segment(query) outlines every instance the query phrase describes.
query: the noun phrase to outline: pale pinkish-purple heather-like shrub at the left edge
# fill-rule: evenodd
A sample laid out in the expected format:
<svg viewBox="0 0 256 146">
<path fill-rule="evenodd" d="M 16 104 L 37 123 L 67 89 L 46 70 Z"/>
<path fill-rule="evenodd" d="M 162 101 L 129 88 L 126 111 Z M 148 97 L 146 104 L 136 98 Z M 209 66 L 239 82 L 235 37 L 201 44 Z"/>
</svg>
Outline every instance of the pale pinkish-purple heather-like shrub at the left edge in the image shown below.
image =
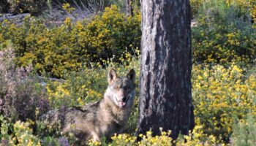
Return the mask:
<svg viewBox="0 0 256 146">
<path fill-rule="evenodd" d="M 48 110 L 45 92 L 31 69 L 16 69 L 13 51 L 0 51 L 0 114 L 12 120 L 34 120 Z M 37 114 L 36 114 L 37 111 Z"/>
</svg>

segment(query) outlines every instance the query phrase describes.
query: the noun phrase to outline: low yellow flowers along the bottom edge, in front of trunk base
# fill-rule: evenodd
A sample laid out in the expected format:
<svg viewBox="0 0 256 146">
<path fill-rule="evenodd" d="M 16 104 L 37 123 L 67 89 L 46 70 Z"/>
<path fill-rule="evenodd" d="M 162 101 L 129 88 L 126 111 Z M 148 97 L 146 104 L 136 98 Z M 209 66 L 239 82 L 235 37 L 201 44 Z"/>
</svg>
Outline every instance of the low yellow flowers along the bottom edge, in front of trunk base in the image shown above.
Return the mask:
<svg viewBox="0 0 256 146">
<path fill-rule="evenodd" d="M 133 136 L 132 134 L 118 134 L 114 135 L 111 139 L 112 141 L 108 145 L 138 145 L 138 146 L 145 146 L 145 145 L 217 145 L 216 139 L 214 136 L 207 137 L 203 135 L 200 126 L 195 126 L 194 131 L 190 131 L 188 136 L 180 135 L 178 139 L 174 140 L 170 137 L 171 131 L 162 131 L 160 128 L 161 134 L 159 136 L 153 136 L 152 131 L 147 131 L 146 135 L 140 134 L 140 141 L 136 141 L 137 137 Z M 107 145 L 105 142 L 93 142 L 90 141 L 89 145 L 97 146 L 97 145 Z M 225 145 L 222 143 L 222 145 Z"/>
</svg>

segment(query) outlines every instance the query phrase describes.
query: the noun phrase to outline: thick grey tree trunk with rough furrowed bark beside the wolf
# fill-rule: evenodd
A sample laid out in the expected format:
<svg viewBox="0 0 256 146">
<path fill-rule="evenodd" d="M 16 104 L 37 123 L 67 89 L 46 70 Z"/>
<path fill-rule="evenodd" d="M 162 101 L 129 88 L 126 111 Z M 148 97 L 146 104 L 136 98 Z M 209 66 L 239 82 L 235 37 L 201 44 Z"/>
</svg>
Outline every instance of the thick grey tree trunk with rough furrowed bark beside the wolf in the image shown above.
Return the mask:
<svg viewBox="0 0 256 146">
<path fill-rule="evenodd" d="M 194 127 L 189 0 L 141 0 L 142 40 L 138 134 Z"/>
</svg>

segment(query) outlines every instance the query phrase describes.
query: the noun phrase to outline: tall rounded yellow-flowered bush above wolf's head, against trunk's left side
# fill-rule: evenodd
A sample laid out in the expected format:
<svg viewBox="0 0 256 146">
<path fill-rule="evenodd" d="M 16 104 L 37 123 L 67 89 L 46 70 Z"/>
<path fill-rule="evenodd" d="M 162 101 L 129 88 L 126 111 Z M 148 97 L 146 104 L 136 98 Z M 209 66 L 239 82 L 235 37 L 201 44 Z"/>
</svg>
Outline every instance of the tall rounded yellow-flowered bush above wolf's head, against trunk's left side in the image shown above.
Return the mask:
<svg viewBox="0 0 256 146">
<path fill-rule="evenodd" d="M 84 36 L 96 59 L 120 58 L 126 47 L 132 53 L 133 47 L 140 47 L 140 14 L 126 18 L 116 6 L 107 7 L 102 15 L 96 15 L 86 26 Z M 83 35 L 83 34 L 81 34 Z M 114 59 L 116 59 L 114 58 Z"/>
</svg>

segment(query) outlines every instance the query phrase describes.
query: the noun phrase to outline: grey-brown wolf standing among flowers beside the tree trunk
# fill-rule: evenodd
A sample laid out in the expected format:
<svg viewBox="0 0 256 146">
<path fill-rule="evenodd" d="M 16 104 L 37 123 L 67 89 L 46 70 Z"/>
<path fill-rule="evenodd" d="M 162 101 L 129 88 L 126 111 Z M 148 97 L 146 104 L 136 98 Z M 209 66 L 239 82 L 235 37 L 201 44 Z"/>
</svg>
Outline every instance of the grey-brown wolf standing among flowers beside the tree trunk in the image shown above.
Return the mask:
<svg viewBox="0 0 256 146">
<path fill-rule="evenodd" d="M 83 107 L 52 110 L 41 117 L 46 125 L 61 123 L 61 132 L 72 133 L 78 145 L 89 139 L 99 141 L 119 134 L 129 119 L 135 100 L 135 70 L 126 77 L 118 77 L 114 69 L 108 72 L 108 88 L 104 98 Z M 61 121 L 60 121 L 61 120 Z"/>
</svg>

